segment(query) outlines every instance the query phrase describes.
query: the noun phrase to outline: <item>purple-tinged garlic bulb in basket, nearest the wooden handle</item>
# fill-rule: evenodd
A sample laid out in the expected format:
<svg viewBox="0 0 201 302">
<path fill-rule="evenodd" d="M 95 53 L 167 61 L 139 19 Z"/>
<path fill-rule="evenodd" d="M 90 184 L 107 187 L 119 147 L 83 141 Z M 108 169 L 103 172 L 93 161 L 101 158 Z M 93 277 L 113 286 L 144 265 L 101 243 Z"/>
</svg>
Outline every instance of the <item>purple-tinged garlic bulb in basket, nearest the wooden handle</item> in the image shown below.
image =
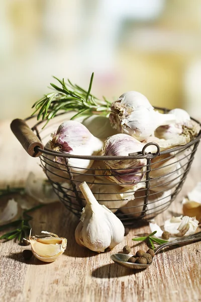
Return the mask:
<svg viewBox="0 0 201 302">
<path fill-rule="evenodd" d="M 96 155 L 103 147 L 103 141 L 93 136 L 88 129 L 79 122 L 68 120 L 62 123 L 57 132 L 52 135 L 50 146 L 53 151 L 77 156 Z M 65 168 L 62 157 L 55 157 L 54 161 L 59 167 Z M 79 158 L 68 159 L 71 172 L 85 173 L 93 164 L 92 160 Z"/>
</svg>

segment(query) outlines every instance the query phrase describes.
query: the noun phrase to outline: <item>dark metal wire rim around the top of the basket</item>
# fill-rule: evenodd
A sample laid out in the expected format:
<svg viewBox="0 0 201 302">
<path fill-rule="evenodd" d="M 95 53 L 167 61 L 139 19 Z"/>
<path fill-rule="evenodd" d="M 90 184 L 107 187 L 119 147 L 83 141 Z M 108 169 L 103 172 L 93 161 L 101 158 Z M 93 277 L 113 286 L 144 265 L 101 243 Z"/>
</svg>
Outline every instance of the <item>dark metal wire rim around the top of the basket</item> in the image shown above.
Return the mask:
<svg viewBox="0 0 201 302">
<path fill-rule="evenodd" d="M 162 107 L 154 107 L 154 109 L 158 109 L 158 110 L 163 110 L 164 112 L 168 112 L 171 109 L 167 109 L 167 108 L 162 108 Z M 58 114 L 56 114 L 55 116 L 59 116 L 59 115 L 63 115 L 69 113 L 64 111 L 64 112 L 60 112 Z M 33 115 L 33 116 L 29 116 L 27 118 L 24 119 L 24 121 L 28 121 L 32 118 L 35 118 L 37 115 Z M 182 150 L 182 149 L 186 149 L 188 147 L 190 147 L 191 145 L 195 144 L 196 142 L 199 142 L 200 138 L 201 138 L 201 122 L 197 121 L 196 119 L 194 119 L 193 117 L 190 116 L 190 119 L 193 120 L 195 123 L 197 123 L 200 126 L 200 130 L 199 133 L 197 134 L 197 136 L 195 138 L 193 138 L 191 141 L 189 141 L 188 143 L 186 143 L 185 145 L 181 145 L 181 146 L 177 146 L 174 148 L 169 148 L 167 150 L 164 151 L 160 151 L 160 147 L 156 142 L 148 142 L 147 144 L 144 145 L 143 149 L 137 153 L 132 153 L 129 154 L 128 156 L 105 156 L 105 155 L 88 155 L 88 156 L 82 156 L 82 155 L 72 155 L 72 154 L 63 154 L 62 152 L 59 151 L 52 151 L 49 148 L 46 148 L 44 146 L 44 149 L 40 148 L 40 147 L 36 147 L 37 151 L 42 153 L 42 154 L 46 154 L 46 155 L 50 155 L 53 157 L 61 157 L 61 158 L 74 158 L 74 159 L 83 159 L 83 160 L 99 160 L 99 161 L 105 161 L 105 160 L 134 160 L 134 159 L 153 159 L 159 155 L 164 155 L 164 154 L 168 154 L 168 153 L 172 153 L 172 152 L 176 152 L 178 150 Z M 41 123 L 45 122 L 47 119 L 44 119 L 42 121 L 39 121 L 38 123 L 36 123 L 33 127 L 32 130 L 36 131 L 36 135 L 38 136 L 38 138 L 41 140 L 40 138 L 40 134 L 39 131 L 37 129 L 37 126 L 39 126 Z M 155 145 L 157 147 L 157 152 L 156 153 L 146 153 L 145 149 L 147 146 L 149 145 Z"/>
</svg>

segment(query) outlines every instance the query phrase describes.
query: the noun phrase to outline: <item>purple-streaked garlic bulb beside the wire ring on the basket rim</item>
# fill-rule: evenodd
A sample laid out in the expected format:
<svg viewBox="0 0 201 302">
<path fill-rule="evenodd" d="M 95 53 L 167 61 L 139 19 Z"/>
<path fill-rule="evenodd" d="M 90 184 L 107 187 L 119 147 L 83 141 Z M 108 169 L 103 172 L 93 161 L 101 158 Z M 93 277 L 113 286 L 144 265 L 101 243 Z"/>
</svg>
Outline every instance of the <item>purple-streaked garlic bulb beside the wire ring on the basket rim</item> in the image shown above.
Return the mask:
<svg viewBox="0 0 201 302">
<path fill-rule="evenodd" d="M 176 139 L 161 140 L 158 144 L 162 150 L 179 144 L 186 144 L 188 141 L 189 136 L 181 136 Z M 120 133 L 113 135 L 106 140 L 103 155 L 128 156 L 130 153 L 139 153 L 144 146 L 144 143 L 138 141 L 134 137 Z M 149 145 L 146 148 L 146 152 L 156 153 L 157 147 L 155 145 Z M 124 161 L 106 160 L 104 163 L 108 170 L 106 170 L 105 175 L 120 186 L 133 186 L 142 180 L 144 172 L 146 171 L 146 162 L 146 159 L 131 159 Z"/>
</svg>

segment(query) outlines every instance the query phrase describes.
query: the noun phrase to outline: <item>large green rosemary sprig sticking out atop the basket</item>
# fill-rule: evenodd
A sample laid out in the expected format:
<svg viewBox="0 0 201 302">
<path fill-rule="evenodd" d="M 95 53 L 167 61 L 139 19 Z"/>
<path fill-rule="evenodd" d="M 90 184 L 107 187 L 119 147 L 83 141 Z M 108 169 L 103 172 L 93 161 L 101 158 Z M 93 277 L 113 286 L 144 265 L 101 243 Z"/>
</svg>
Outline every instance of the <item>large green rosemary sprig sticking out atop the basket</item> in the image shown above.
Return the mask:
<svg viewBox="0 0 201 302">
<path fill-rule="evenodd" d="M 93 82 L 93 73 L 91 74 L 87 91 L 76 84 L 73 85 L 70 80 L 65 83 L 64 79 L 59 80 L 56 77 L 53 78 L 59 82 L 60 87 L 50 83 L 54 92 L 46 94 L 32 106 L 32 108 L 35 107 L 32 116 L 38 112 L 38 120 L 40 118 L 42 118 L 42 120 L 47 119 L 47 124 L 60 110 L 66 112 L 76 111 L 77 113 L 71 119 L 83 114 L 92 115 L 95 113 L 105 116 L 108 114 L 111 103 L 105 97 L 103 97 L 104 100 L 101 101 L 90 93 Z"/>
</svg>

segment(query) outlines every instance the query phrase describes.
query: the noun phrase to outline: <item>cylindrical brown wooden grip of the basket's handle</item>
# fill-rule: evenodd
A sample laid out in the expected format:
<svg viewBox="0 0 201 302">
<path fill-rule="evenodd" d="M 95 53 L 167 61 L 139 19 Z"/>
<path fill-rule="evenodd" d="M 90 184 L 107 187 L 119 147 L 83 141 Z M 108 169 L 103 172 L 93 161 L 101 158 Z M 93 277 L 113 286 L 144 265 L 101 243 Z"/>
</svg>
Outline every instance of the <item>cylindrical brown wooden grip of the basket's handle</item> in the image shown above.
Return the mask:
<svg viewBox="0 0 201 302">
<path fill-rule="evenodd" d="M 24 120 L 19 118 L 13 120 L 11 130 L 30 156 L 39 157 L 42 155 L 42 152 L 38 150 L 38 148 L 44 149 L 42 142 Z"/>
</svg>

